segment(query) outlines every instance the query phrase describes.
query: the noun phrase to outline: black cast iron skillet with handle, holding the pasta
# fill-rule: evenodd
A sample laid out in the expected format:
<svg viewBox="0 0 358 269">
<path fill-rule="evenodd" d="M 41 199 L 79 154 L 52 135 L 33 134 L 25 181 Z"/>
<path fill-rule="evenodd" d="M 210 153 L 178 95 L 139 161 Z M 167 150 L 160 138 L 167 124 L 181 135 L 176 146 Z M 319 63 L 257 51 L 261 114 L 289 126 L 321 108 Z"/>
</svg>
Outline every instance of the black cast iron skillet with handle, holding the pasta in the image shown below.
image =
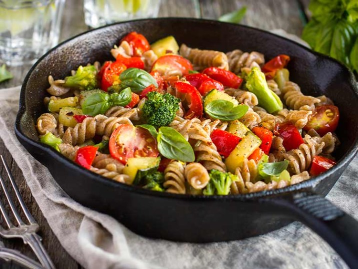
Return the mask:
<svg viewBox="0 0 358 269">
<path fill-rule="evenodd" d="M 283 189 L 232 196 L 191 196 L 151 192 L 94 174 L 38 142 L 36 118 L 47 76 L 70 74 L 79 65 L 112 59 L 109 50 L 128 32 L 149 42 L 173 35 L 178 44 L 223 52 L 258 51 L 271 59 L 287 54 L 290 79 L 305 94 L 331 98 L 340 110 L 335 152 L 337 165 Z M 107 213 L 132 231 L 174 241 L 212 242 L 266 233 L 299 220 L 315 230 L 353 267 L 358 264 L 357 222 L 323 198 L 357 152 L 357 84 L 345 67 L 294 42 L 257 29 L 197 19 L 151 19 L 89 31 L 46 53 L 28 72 L 21 89 L 15 132 L 21 144 L 47 166 L 62 189 L 77 202 Z M 354 180 L 354 179 L 352 179 Z"/>
</svg>

